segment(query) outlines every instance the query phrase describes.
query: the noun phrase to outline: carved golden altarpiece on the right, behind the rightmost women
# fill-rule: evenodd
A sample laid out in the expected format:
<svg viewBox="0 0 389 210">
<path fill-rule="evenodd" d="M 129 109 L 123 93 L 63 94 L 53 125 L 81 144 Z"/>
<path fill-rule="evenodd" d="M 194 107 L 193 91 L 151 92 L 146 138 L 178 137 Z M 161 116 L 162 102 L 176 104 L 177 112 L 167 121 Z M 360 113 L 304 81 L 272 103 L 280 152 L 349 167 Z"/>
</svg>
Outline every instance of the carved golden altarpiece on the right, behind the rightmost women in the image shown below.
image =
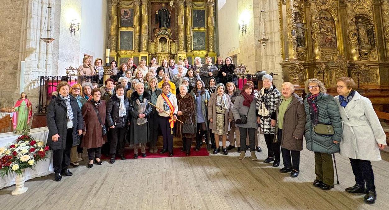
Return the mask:
<svg viewBox="0 0 389 210">
<path fill-rule="evenodd" d="M 285 81 L 301 90 L 317 78 L 336 93 L 350 76 L 389 104 L 389 0 L 279 0 L 279 11 Z"/>
</svg>

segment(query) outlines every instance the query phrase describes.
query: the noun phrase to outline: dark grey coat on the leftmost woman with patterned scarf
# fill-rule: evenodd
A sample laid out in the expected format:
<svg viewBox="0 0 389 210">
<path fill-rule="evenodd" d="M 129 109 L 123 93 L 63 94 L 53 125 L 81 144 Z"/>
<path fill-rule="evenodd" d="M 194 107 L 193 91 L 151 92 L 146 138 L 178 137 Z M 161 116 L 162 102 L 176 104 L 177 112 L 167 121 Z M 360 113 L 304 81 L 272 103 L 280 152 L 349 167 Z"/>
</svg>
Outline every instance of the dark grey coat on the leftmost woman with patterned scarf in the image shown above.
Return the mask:
<svg viewBox="0 0 389 210">
<path fill-rule="evenodd" d="M 73 146 L 76 146 L 79 142 L 77 130 L 84 129 L 84 121 L 82 119 L 81 109 L 77 104 L 77 100 L 72 95 L 70 95 L 70 106 L 73 111 Z M 51 100 L 49 106 L 47 107 L 46 122 L 47 127 L 49 128 L 47 146 L 49 146 L 51 150 L 65 150 L 66 148 L 68 125 L 66 111 L 65 101 L 59 96 Z M 51 138 L 55 134 L 60 136 L 56 142 L 54 142 Z"/>
</svg>

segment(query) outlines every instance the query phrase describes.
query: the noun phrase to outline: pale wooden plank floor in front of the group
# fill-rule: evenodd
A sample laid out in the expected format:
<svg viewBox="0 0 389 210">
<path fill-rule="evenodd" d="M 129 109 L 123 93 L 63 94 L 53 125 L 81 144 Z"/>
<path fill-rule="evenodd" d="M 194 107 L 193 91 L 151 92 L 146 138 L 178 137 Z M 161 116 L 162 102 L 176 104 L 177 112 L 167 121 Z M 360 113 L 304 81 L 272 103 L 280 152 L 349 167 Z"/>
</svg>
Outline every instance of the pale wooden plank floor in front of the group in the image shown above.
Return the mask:
<svg viewBox="0 0 389 210">
<path fill-rule="evenodd" d="M 340 185 L 330 191 L 312 186 L 314 154 L 301 152 L 300 175 L 291 178 L 264 164 L 266 146 L 261 137 L 259 161 L 238 160 L 236 150 L 208 157 L 173 157 L 103 162 L 88 169 L 71 168 L 61 182 L 53 175 L 26 182 L 28 191 L 11 196 L 14 186 L 0 190 L 0 208 L 17 209 L 389 209 L 389 154 L 373 162 L 378 199 L 363 202 L 349 194 L 354 185 L 348 159 L 336 155 Z M 246 153 L 249 155 L 249 152 Z M 86 158 L 86 157 L 84 157 Z"/>
</svg>

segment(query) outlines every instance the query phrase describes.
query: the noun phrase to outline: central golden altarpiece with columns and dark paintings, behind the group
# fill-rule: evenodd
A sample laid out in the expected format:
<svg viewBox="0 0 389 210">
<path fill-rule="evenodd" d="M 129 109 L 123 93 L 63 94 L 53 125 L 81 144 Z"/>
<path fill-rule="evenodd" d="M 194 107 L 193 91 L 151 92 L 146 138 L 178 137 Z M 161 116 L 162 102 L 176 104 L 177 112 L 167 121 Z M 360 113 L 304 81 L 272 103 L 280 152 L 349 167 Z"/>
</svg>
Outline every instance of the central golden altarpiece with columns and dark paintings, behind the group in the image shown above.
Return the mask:
<svg viewBox="0 0 389 210">
<path fill-rule="evenodd" d="M 216 59 L 215 0 L 110 0 L 110 60 Z"/>
</svg>

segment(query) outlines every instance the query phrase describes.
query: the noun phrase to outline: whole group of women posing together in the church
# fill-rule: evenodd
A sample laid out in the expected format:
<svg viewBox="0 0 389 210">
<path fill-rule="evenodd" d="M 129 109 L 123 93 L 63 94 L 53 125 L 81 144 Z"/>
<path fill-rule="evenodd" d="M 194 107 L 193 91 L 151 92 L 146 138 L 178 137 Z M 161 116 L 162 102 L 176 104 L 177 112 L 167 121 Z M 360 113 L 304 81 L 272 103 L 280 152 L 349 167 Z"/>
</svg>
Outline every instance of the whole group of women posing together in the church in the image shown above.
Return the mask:
<svg viewBox="0 0 389 210">
<path fill-rule="evenodd" d="M 149 65 L 143 60 L 136 67 L 131 61 L 120 65 L 117 81 L 107 79 L 101 88 L 90 83 L 72 87 L 67 82 L 58 84 L 58 97 L 47 110 L 47 144 L 53 150 L 55 180 L 72 175 L 68 165 L 78 165 L 82 148 L 88 151 L 88 168 L 102 164 L 102 150 L 109 153 L 111 164 L 116 157 L 126 159 L 125 136 L 133 145 L 134 159 L 139 147 L 142 157 L 146 157 L 146 143 L 149 152 L 156 153 L 159 132 L 163 136 L 159 153 L 168 152 L 170 157 L 175 135 L 182 138 L 186 155 L 190 155 L 193 141 L 195 151 L 199 151 L 204 138 L 207 147 L 214 149 L 213 154 L 227 155 L 236 144 L 240 160 L 249 149 L 251 159 L 256 161 L 256 151 L 261 151 L 256 143 L 260 127 L 268 148 L 265 163 L 273 162 L 273 167 L 278 167 L 282 155 L 284 167 L 280 173 L 297 177 L 304 136 L 307 149 L 314 152 L 315 187 L 334 187 L 331 154 L 340 153 L 349 157 L 356 180 L 346 191 L 364 193 L 364 200 L 374 203 L 370 161 L 381 159 L 379 149 L 386 145 L 386 137 L 370 100 L 355 91 L 352 78 L 338 78 L 339 95 L 335 98 L 326 93 L 320 80 L 309 79 L 305 83 L 308 94 L 303 99 L 294 93 L 292 83 L 282 83 L 279 91 L 268 74 L 263 76 L 261 90 L 254 90 L 252 82 L 238 90 L 233 79 L 228 81 L 226 77 L 232 73 L 228 70 L 233 65 L 231 58 L 226 58 L 227 65 L 218 57 L 213 65 L 207 57 L 205 66 L 198 57 L 193 66 L 187 60 L 180 62 L 184 65 L 176 65 L 172 59 L 158 66 L 152 58 Z M 84 65 L 88 65 L 88 59 Z M 77 157 L 77 153 L 81 155 Z"/>
</svg>

